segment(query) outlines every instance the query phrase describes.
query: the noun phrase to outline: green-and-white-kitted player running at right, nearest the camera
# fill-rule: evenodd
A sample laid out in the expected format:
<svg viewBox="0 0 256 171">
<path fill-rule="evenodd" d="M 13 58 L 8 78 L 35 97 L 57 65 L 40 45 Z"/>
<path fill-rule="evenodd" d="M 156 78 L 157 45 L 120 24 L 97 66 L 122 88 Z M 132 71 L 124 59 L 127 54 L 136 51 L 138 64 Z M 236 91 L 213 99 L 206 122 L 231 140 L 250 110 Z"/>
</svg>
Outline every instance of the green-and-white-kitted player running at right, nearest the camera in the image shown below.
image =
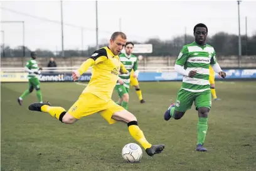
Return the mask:
<svg viewBox="0 0 256 171">
<path fill-rule="evenodd" d="M 175 71 L 182 74 L 183 83 L 179 89 L 176 104 L 171 104 L 164 114 L 164 120 L 181 119 L 186 110 L 191 108 L 193 102 L 198 110 L 198 140 L 197 151 L 206 151 L 203 147 L 208 129 L 208 112 L 211 109 L 211 90 L 209 83 L 209 66 L 221 77 L 223 72 L 216 62 L 215 50 L 206 44 L 208 28 L 205 24 L 197 24 L 194 27 L 195 42 L 186 44 L 181 49 L 174 66 Z"/>
</svg>

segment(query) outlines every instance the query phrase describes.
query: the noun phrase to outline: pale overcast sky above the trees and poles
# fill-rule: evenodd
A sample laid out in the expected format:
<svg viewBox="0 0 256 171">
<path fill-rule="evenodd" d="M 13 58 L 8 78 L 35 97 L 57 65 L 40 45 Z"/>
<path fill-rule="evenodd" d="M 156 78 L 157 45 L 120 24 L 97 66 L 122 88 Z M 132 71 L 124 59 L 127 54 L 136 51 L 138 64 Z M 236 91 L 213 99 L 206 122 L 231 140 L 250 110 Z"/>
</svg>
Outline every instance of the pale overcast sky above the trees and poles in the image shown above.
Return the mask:
<svg viewBox="0 0 256 171">
<path fill-rule="evenodd" d="M 1 21 L 24 21 L 25 45 L 31 50 L 61 50 L 60 1 L 2 1 L 1 7 Z M 63 22 L 79 26 L 64 26 L 65 49 L 82 49 L 82 38 L 84 49 L 96 44 L 95 13 L 95 1 L 63 1 Z M 245 34 L 245 16 L 248 36 L 252 36 L 256 33 L 256 1 L 240 4 L 241 34 Z M 119 19 L 121 31 L 136 41 L 172 39 L 184 35 L 185 27 L 193 34 L 198 22 L 208 26 L 208 36 L 219 31 L 238 34 L 237 1 L 98 1 L 99 42 L 108 41 L 112 32 L 119 31 Z M 83 37 L 81 27 L 85 27 Z M 22 45 L 22 24 L 1 23 L 1 30 L 6 45 Z"/>
</svg>

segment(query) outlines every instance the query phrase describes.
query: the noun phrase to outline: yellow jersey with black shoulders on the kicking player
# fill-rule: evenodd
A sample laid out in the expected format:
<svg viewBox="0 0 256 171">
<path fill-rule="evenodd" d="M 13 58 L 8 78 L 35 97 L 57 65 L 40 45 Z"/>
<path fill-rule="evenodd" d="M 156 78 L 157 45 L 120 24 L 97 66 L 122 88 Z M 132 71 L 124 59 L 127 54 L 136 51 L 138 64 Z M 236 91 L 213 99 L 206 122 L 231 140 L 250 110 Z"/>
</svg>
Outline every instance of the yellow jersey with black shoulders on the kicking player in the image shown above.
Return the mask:
<svg viewBox="0 0 256 171">
<path fill-rule="evenodd" d="M 91 64 L 92 77 L 82 93 L 89 92 L 102 100 L 109 101 L 120 72 L 127 73 L 128 71 L 120 62 L 119 56 L 115 56 L 109 47 L 102 47 L 95 51 L 87 61 L 92 61 L 92 59 L 94 61 Z"/>
</svg>

